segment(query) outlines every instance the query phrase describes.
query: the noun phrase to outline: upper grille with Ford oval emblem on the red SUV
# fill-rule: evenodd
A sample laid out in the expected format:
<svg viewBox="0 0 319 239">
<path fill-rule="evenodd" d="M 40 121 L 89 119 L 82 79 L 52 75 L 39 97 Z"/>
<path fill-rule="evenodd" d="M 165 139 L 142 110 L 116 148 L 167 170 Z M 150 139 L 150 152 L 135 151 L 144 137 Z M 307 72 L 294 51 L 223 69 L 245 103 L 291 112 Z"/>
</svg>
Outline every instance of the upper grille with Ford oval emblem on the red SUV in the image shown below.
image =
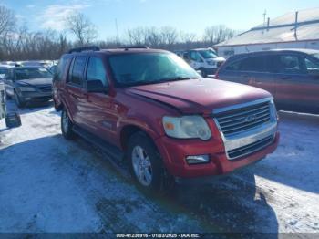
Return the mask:
<svg viewBox="0 0 319 239">
<path fill-rule="evenodd" d="M 215 115 L 224 137 L 251 130 L 271 120 L 270 101 Z"/>
</svg>

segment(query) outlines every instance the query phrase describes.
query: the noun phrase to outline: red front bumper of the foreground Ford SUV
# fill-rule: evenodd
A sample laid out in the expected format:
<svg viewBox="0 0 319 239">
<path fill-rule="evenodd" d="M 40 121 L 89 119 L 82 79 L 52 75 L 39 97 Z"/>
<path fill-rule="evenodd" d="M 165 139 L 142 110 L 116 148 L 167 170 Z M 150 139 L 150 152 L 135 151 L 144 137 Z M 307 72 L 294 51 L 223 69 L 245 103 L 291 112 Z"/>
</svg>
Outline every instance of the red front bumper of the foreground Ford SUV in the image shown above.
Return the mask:
<svg viewBox="0 0 319 239">
<path fill-rule="evenodd" d="M 210 122 L 210 127 L 214 137 L 208 141 L 176 140 L 167 136 L 156 140 L 156 145 L 171 175 L 193 178 L 230 173 L 255 161 L 260 161 L 267 154 L 275 151 L 280 138 L 279 132 L 275 132 L 272 143 L 260 151 L 252 152 L 236 160 L 229 160 L 217 126 Z M 208 163 L 190 165 L 185 160 L 187 156 L 202 154 L 209 155 L 210 161 Z"/>
</svg>

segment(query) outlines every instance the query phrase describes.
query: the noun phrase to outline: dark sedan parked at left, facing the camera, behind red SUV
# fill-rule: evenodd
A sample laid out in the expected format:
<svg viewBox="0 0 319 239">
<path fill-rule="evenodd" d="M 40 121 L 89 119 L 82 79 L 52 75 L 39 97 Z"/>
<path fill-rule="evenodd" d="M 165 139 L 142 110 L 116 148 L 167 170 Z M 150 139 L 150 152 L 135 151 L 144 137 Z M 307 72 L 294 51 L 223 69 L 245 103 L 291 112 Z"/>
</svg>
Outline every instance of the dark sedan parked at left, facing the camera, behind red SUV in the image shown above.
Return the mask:
<svg viewBox="0 0 319 239">
<path fill-rule="evenodd" d="M 52 99 L 52 74 L 46 68 L 10 68 L 5 76 L 5 92 L 8 98 L 15 98 L 18 107 L 29 101 Z"/>
</svg>

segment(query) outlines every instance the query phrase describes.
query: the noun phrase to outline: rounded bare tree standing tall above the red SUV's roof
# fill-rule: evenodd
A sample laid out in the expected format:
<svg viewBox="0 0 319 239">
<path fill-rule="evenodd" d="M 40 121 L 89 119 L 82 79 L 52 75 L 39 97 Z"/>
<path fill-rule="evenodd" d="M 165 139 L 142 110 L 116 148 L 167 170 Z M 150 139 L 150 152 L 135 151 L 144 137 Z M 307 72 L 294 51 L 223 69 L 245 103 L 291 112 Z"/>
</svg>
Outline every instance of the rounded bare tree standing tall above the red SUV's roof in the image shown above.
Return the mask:
<svg viewBox="0 0 319 239">
<path fill-rule="evenodd" d="M 87 46 L 98 37 L 96 26 L 82 13 L 68 16 L 67 28 L 77 37 L 80 46 Z"/>
</svg>

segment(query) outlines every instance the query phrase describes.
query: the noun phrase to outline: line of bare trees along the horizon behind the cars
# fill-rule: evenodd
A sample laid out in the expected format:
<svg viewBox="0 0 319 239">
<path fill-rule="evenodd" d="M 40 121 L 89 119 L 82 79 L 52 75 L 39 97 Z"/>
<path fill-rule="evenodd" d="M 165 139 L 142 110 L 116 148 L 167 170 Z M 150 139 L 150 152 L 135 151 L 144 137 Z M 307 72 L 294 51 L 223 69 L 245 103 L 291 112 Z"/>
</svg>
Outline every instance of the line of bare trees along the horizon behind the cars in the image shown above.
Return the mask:
<svg viewBox="0 0 319 239">
<path fill-rule="evenodd" d="M 206 27 L 202 36 L 179 32 L 171 26 L 128 29 L 121 37 L 98 40 L 97 27 L 82 13 L 75 12 L 65 19 L 66 31 L 46 29 L 30 31 L 19 26 L 15 12 L 0 5 L 0 61 L 58 59 L 68 49 L 96 45 L 101 48 L 148 46 L 168 50 L 212 47 L 237 34 L 226 26 Z M 72 35 L 72 39 L 69 36 Z"/>
</svg>

